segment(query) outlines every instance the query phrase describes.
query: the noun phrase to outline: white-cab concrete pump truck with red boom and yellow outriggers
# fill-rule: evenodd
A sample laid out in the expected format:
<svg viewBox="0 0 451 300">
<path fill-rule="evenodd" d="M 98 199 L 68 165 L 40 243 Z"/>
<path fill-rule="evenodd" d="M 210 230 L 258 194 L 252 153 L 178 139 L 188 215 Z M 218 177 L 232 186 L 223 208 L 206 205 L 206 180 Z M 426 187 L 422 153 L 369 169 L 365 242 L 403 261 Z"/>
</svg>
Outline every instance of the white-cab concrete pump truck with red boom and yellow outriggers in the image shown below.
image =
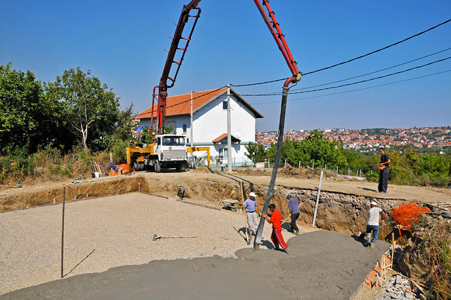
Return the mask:
<svg viewBox="0 0 451 300">
<path fill-rule="evenodd" d="M 291 71 L 292 76 L 287 78 L 284 83 L 284 88 L 288 88 L 289 83 L 296 83 L 300 81 L 301 72 L 299 72 L 296 65 L 296 61 L 291 55 L 291 51 L 287 45 L 282 31 L 280 30 L 279 23 L 275 19 L 275 14 L 269 5 L 269 0 L 253 0 L 260 14 L 262 15 L 264 22 L 269 28 L 271 35 L 275 42 L 278 44 L 279 50 L 282 52 L 282 56 L 287 62 L 287 65 Z M 162 76 L 160 78 L 160 84 L 155 85 L 153 88 L 152 96 L 152 113 L 151 113 L 151 135 L 153 135 L 153 112 L 156 110 L 156 128 L 155 138 L 152 144 L 145 147 L 128 147 L 127 153 L 127 171 L 132 169 L 142 171 L 144 169 L 153 169 L 155 172 L 160 172 L 162 168 L 175 167 L 178 172 L 181 172 L 183 165 L 187 162 L 187 152 L 195 151 L 207 151 L 207 162 L 210 167 L 210 147 L 187 147 L 186 140 L 183 135 L 168 135 L 164 134 L 164 118 L 166 117 L 166 99 L 167 90 L 172 88 L 176 83 L 176 78 L 182 61 L 185 58 L 189 42 L 192 39 L 194 28 L 196 27 L 198 18 L 201 16 L 201 8 L 198 7 L 198 3 L 201 0 L 192 0 L 187 5 L 183 6 L 180 14 L 180 19 L 176 26 L 176 31 L 173 35 L 171 47 L 168 51 L 166 63 L 164 64 Z M 264 6 L 268 10 L 264 10 Z M 196 10 L 196 13 L 191 14 L 192 10 Z M 187 38 L 182 37 L 182 33 L 185 31 L 185 25 L 189 21 L 189 18 L 194 18 L 192 28 L 189 30 Z M 180 46 L 180 41 L 185 41 L 185 44 Z M 181 52 L 181 53 L 180 53 Z M 178 61 L 174 60 L 176 53 L 180 53 Z M 169 76 L 173 65 L 176 65 L 174 75 Z M 158 88 L 158 95 L 155 91 Z M 157 99 L 157 105 L 155 106 L 155 99 Z"/>
</svg>

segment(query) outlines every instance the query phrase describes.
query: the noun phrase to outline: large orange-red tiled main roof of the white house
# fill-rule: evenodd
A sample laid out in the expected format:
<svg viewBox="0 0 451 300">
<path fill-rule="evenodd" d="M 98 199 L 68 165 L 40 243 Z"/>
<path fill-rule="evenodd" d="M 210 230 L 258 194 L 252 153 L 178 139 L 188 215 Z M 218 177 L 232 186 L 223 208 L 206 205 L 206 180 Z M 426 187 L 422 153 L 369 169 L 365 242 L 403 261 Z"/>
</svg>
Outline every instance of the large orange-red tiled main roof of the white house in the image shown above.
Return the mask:
<svg viewBox="0 0 451 300">
<path fill-rule="evenodd" d="M 203 106 L 211 99 L 219 96 L 225 92 L 227 88 L 206 90 L 202 92 L 193 92 L 193 111 Z M 194 99 L 196 98 L 196 99 Z M 189 114 L 191 110 L 191 93 L 181 94 L 177 96 L 167 97 L 166 99 L 166 115 L 185 115 Z M 153 106 L 153 117 L 156 117 L 157 105 Z M 152 107 L 139 113 L 135 119 L 150 118 L 152 115 Z"/>
</svg>

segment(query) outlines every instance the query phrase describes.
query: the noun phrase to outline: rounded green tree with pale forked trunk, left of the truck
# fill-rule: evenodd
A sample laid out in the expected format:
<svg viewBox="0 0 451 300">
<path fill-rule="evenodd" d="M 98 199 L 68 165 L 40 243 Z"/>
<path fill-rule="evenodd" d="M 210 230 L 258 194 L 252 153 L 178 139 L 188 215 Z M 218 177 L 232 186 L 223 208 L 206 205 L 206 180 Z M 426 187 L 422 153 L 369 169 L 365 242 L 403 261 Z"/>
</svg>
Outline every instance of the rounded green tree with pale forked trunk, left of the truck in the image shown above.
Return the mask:
<svg viewBox="0 0 451 300">
<path fill-rule="evenodd" d="M 92 76 L 90 70 L 85 73 L 77 67 L 57 76 L 54 83 L 46 85 L 46 90 L 65 102 L 66 117 L 83 148 L 88 148 L 88 133 L 92 132 L 92 146 L 104 149 L 107 135 L 113 133 L 119 119 L 119 98 L 112 89 Z"/>
</svg>

